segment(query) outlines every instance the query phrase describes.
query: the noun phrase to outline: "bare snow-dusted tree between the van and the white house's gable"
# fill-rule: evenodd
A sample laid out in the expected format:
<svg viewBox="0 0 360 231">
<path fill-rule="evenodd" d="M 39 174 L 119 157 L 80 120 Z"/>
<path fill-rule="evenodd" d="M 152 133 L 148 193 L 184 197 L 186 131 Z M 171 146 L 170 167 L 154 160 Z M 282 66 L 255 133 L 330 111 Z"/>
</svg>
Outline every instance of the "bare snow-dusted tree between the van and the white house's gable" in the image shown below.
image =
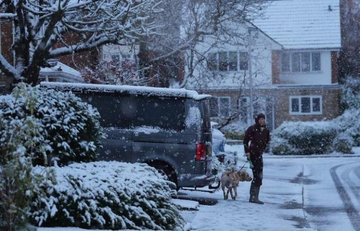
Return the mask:
<svg viewBox="0 0 360 231">
<path fill-rule="evenodd" d="M 247 25 L 266 7 L 265 0 L 180 0 L 163 2 L 163 12 L 154 22 L 157 33 L 140 37 L 140 66 L 152 66 L 146 74 L 160 75 L 160 86 L 168 87 L 174 75 L 184 87 L 188 78 L 201 78 L 194 73 L 207 61 L 211 48 L 225 43 L 244 44 L 247 33 L 239 25 Z M 211 38 L 208 40 L 208 38 Z M 200 50 L 199 45 L 208 47 Z M 186 69 L 186 71 L 185 71 Z M 169 80 L 170 79 L 170 80 Z"/>
</svg>

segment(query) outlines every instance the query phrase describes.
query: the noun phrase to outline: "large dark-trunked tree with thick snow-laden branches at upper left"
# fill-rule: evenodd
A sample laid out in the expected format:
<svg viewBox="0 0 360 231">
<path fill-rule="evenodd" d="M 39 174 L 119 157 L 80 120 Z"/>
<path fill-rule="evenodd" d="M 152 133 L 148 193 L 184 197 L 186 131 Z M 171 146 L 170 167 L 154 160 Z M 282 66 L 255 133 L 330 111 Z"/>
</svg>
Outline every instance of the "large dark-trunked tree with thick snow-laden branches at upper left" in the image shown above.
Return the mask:
<svg viewBox="0 0 360 231">
<path fill-rule="evenodd" d="M 13 82 L 37 84 L 41 67 L 65 54 L 122 44 L 155 33 L 157 0 L 3 0 L 0 19 L 14 27 L 15 64 L 0 55 L 0 69 Z M 81 39 L 67 44 L 67 36 Z"/>
</svg>

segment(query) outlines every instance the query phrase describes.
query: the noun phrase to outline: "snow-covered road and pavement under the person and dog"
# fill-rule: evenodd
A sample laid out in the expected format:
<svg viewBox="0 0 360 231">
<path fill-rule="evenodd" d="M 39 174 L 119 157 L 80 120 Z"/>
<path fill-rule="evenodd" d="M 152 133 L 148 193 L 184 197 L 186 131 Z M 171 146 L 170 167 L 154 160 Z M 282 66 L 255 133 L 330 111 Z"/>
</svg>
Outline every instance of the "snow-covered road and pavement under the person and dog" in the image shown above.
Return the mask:
<svg viewBox="0 0 360 231">
<path fill-rule="evenodd" d="M 193 229 L 204 231 L 360 230 L 360 155 L 265 155 L 260 190 L 264 205 L 248 203 L 249 187 L 249 182 L 240 184 L 237 201 L 224 201 L 221 191 L 184 191 L 219 200 L 215 206 L 200 206 L 199 211 L 184 215 Z"/>
</svg>

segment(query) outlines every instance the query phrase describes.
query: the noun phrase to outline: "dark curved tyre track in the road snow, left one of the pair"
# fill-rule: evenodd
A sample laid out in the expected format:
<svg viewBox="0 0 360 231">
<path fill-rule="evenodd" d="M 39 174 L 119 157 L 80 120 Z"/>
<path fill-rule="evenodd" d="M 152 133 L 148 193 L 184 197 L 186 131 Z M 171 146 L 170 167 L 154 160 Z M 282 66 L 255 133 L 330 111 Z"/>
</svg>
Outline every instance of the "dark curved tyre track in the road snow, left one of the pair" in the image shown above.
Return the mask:
<svg viewBox="0 0 360 231">
<path fill-rule="evenodd" d="M 347 163 L 347 164 L 352 164 L 352 163 Z M 346 191 L 345 187 L 341 183 L 340 178 L 336 174 L 337 168 L 347 164 L 340 164 L 332 167 L 330 169 L 330 175 L 335 183 L 336 190 L 341 198 L 341 201 L 343 201 L 345 211 L 350 219 L 351 225 L 355 230 L 360 230 L 360 215 L 358 214 L 358 211 L 355 209 L 355 206 L 352 204 L 351 198 L 348 192 Z"/>
</svg>

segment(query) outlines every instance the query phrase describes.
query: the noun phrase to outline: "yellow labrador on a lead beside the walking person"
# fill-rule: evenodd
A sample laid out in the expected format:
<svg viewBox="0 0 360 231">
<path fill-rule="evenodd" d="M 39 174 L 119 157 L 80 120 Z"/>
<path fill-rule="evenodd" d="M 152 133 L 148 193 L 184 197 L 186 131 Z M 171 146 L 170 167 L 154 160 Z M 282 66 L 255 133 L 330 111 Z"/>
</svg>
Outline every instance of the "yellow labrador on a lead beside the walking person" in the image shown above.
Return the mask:
<svg viewBox="0 0 360 231">
<path fill-rule="evenodd" d="M 224 171 L 221 175 L 221 189 L 223 189 L 224 200 L 227 200 L 229 197 L 229 191 L 232 200 L 236 200 L 238 196 L 237 187 L 239 186 L 240 181 L 251 181 L 253 180 L 246 171 Z M 227 192 L 225 194 L 225 187 Z M 232 195 L 232 189 L 234 189 L 235 195 Z"/>
</svg>

